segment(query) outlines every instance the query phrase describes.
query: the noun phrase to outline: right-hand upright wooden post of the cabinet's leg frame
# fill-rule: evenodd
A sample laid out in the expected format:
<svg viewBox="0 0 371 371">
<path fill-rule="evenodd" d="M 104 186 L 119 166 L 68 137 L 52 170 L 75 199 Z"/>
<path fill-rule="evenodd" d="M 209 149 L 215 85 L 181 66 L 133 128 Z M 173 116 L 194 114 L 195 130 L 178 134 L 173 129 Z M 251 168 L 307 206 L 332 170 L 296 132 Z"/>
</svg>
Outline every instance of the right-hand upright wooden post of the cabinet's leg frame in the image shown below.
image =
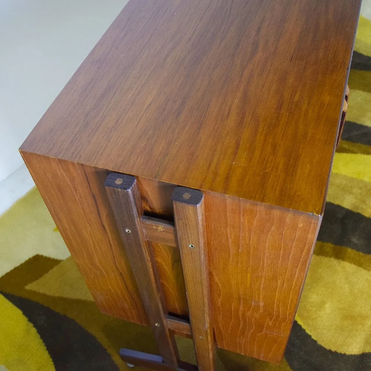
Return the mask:
<svg viewBox="0 0 371 371">
<path fill-rule="evenodd" d="M 203 193 L 177 187 L 171 196 L 198 369 L 215 369 Z"/>
</svg>

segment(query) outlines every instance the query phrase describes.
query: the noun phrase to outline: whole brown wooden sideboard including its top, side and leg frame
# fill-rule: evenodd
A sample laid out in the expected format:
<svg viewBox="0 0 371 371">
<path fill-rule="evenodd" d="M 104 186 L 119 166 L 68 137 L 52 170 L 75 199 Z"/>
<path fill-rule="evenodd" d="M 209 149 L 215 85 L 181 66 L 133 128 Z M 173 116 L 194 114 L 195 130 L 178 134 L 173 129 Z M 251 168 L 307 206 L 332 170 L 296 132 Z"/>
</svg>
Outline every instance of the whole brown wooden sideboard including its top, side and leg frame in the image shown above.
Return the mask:
<svg viewBox="0 0 371 371">
<path fill-rule="evenodd" d="M 324 212 L 360 0 L 130 0 L 20 152 L 100 310 L 279 362 Z M 342 109 L 344 108 L 344 110 Z M 344 111 L 344 112 L 343 112 Z"/>
</svg>

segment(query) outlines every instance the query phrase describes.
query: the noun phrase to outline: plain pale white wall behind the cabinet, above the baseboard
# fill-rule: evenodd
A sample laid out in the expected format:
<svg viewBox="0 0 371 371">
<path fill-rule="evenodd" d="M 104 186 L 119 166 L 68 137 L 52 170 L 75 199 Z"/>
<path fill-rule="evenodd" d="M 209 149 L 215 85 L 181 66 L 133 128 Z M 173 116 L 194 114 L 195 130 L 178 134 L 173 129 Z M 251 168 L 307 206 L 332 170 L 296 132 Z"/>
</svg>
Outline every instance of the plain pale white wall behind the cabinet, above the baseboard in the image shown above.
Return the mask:
<svg viewBox="0 0 371 371">
<path fill-rule="evenodd" d="M 0 0 L 0 182 L 126 0 Z M 1 195 L 0 195 L 1 197 Z"/>
</svg>

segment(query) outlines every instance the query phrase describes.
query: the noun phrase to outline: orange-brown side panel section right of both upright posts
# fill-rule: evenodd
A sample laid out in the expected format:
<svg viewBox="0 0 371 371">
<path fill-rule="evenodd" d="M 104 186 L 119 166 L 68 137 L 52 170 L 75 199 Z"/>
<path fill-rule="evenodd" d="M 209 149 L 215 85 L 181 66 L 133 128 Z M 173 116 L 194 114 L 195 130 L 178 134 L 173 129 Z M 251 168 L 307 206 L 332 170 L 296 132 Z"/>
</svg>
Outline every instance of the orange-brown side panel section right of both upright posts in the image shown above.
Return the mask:
<svg viewBox="0 0 371 371">
<path fill-rule="evenodd" d="M 211 305 L 221 348 L 283 357 L 319 216 L 205 193 Z"/>
</svg>

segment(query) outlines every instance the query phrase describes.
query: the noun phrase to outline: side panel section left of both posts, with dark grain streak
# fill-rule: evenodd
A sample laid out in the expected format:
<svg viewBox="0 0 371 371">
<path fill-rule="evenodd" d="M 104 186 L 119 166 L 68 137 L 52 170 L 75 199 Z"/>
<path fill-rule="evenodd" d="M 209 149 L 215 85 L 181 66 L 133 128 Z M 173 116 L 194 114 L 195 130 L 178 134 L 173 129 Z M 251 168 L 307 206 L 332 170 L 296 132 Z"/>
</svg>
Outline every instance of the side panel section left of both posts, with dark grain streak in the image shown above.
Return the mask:
<svg viewBox="0 0 371 371">
<path fill-rule="evenodd" d="M 148 325 L 104 189 L 106 170 L 22 152 L 99 309 Z"/>
</svg>

